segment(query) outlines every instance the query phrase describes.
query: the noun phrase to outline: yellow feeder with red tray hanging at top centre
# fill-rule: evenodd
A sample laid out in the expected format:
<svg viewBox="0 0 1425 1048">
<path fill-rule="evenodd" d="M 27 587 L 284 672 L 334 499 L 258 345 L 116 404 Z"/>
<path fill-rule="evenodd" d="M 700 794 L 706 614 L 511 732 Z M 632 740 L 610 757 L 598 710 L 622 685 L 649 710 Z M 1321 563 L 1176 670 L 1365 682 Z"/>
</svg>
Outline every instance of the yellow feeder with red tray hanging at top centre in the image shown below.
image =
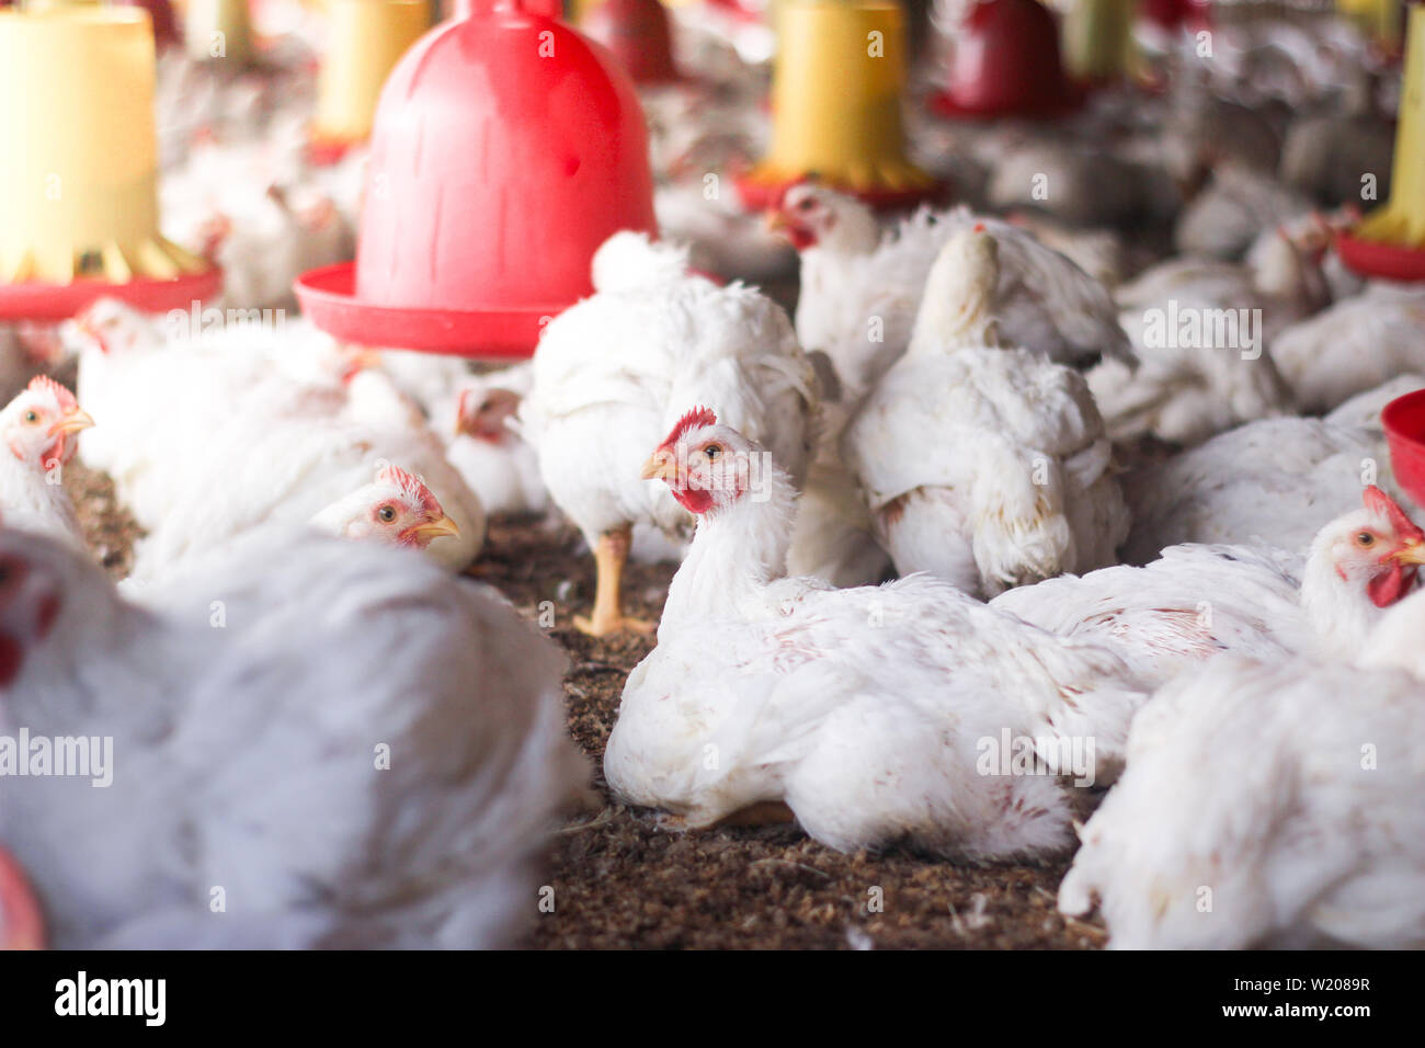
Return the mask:
<svg viewBox="0 0 1425 1048">
<path fill-rule="evenodd" d="M 777 24 L 772 147 L 738 180 L 744 204 L 771 207 L 808 177 L 888 210 L 942 195 L 905 151 L 899 4 L 784 0 Z"/>
</svg>

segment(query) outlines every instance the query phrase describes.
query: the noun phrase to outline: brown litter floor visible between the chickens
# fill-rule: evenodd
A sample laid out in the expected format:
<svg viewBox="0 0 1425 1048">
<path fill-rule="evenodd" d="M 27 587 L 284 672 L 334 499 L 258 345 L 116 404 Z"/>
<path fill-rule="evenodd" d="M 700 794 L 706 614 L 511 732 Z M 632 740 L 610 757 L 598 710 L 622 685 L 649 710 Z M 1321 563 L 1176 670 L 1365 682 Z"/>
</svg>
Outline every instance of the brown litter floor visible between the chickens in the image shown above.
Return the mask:
<svg viewBox="0 0 1425 1048">
<path fill-rule="evenodd" d="M 123 577 L 140 532 L 111 482 L 77 463 L 64 482 L 90 545 Z M 550 635 L 570 656 L 570 731 L 598 769 L 624 676 L 653 642 L 571 629 L 593 592 L 593 562 L 579 545 L 570 529 L 497 520 L 472 575 L 532 619 L 553 602 Z M 657 617 L 671 576 L 671 566 L 630 569 L 636 613 Z M 1082 950 L 1104 940 L 1102 925 L 1054 908 L 1067 863 L 976 868 L 903 853 L 842 856 L 789 827 L 678 833 L 611 801 L 601 776 L 596 784 L 604 807 L 560 830 L 547 880 L 554 913 L 537 918 L 523 945 Z"/>
</svg>

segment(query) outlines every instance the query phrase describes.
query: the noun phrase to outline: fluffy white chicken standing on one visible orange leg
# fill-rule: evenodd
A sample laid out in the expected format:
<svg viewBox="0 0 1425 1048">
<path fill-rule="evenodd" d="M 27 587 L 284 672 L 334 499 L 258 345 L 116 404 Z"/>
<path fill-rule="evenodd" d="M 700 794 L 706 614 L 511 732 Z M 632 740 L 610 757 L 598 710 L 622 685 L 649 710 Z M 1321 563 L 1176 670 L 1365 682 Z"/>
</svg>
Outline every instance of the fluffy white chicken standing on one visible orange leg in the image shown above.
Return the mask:
<svg viewBox="0 0 1425 1048">
<path fill-rule="evenodd" d="M 651 629 L 623 613 L 636 523 L 673 535 L 687 512 L 638 465 L 687 404 L 707 404 L 765 442 L 795 478 L 815 439 L 815 375 L 781 307 L 741 285 L 687 275 L 685 252 L 620 232 L 594 255 L 596 295 L 560 314 L 534 351 L 520 405 L 554 503 L 594 550 L 601 636 Z"/>
</svg>

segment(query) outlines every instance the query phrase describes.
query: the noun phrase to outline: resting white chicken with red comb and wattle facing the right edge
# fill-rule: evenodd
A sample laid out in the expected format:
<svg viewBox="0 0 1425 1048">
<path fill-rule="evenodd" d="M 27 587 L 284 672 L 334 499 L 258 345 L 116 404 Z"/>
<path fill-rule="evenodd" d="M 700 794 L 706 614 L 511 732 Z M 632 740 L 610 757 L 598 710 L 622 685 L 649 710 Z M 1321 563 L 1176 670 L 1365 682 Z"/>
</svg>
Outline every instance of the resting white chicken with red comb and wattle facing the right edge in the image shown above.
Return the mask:
<svg viewBox="0 0 1425 1048">
<path fill-rule="evenodd" d="M 1146 567 L 1049 579 L 993 603 L 1112 647 L 1157 687 L 1220 652 L 1357 656 L 1382 610 L 1415 586 L 1422 543 L 1425 532 L 1399 505 L 1367 488 L 1359 509 L 1317 533 L 1305 565 L 1282 550 L 1170 546 Z"/>
</svg>

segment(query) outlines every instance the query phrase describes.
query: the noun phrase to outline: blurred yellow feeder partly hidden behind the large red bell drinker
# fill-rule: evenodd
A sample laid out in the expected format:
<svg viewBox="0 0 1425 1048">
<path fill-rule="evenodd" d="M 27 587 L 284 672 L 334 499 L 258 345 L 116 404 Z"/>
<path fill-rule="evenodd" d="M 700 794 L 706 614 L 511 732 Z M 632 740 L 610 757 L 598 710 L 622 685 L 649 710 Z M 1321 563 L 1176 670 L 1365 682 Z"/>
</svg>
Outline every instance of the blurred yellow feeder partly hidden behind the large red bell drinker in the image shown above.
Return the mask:
<svg viewBox="0 0 1425 1048">
<path fill-rule="evenodd" d="M 312 160 L 335 163 L 370 137 L 376 103 L 400 56 L 433 24 L 429 0 L 328 0 Z"/>
</svg>

